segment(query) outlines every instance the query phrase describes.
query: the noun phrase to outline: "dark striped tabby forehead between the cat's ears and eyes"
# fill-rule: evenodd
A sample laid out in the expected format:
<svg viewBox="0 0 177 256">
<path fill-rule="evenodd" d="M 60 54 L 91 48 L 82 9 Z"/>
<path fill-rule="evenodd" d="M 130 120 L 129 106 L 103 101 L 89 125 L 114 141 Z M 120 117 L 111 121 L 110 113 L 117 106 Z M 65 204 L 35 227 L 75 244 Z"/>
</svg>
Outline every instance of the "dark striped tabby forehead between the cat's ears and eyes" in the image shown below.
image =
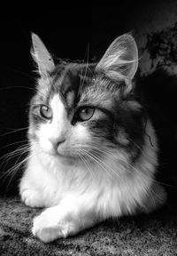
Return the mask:
<svg viewBox="0 0 177 256">
<path fill-rule="evenodd" d="M 75 63 L 57 67 L 50 75 L 50 84 L 44 93 L 46 103 L 50 104 L 58 94 L 68 112 L 81 105 L 112 108 L 112 99 L 119 99 L 119 86 L 103 78 L 95 67 Z"/>
</svg>

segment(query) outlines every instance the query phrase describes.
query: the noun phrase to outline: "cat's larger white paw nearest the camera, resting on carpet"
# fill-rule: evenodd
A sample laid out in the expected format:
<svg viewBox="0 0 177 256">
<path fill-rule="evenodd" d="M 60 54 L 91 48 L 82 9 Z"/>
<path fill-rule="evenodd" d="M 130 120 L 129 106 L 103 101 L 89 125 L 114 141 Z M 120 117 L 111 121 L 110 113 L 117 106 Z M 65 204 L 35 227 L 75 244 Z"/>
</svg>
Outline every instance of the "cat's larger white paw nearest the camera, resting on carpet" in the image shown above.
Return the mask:
<svg viewBox="0 0 177 256">
<path fill-rule="evenodd" d="M 49 243 L 57 238 L 74 235 L 78 232 L 77 224 L 74 221 L 61 218 L 56 212 L 52 212 L 52 207 L 35 217 L 32 233 L 42 242 Z"/>
</svg>

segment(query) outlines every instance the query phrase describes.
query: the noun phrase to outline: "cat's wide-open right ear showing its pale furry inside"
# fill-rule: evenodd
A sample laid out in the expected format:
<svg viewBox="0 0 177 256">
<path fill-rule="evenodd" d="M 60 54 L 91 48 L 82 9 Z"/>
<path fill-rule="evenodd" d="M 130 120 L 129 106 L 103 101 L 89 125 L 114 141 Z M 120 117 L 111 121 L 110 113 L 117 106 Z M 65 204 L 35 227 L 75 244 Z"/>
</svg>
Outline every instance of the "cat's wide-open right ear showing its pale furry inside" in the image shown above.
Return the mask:
<svg viewBox="0 0 177 256">
<path fill-rule="evenodd" d="M 133 36 L 125 34 L 117 37 L 97 67 L 112 79 L 124 79 L 131 90 L 131 80 L 138 68 L 138 50 Z"/>
</svg>

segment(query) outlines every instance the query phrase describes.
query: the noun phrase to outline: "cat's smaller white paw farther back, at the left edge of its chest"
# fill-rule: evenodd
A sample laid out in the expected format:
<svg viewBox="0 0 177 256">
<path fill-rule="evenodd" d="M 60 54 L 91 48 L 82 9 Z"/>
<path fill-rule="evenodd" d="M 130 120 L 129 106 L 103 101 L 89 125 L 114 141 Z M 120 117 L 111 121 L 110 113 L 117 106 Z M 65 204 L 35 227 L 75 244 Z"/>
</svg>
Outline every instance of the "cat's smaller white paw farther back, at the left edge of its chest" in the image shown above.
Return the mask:
<svg viewBox="0 0 177 256">
<path fill-rule="evenodd" d="M 30 207 L 44 207 L 42 198 L 38 191 L 31 188 L 23 189 L 20 192 L 21 200 Z"/>
</svg>

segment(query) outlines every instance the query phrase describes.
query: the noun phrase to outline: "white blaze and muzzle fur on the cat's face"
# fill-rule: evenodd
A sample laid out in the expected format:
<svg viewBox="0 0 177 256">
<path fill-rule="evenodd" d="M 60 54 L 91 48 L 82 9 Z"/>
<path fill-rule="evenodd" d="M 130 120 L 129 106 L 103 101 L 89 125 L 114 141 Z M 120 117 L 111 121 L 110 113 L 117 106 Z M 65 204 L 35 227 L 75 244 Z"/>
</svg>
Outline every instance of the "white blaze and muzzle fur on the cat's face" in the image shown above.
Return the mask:
<svg viewBox="0 0 177 256">
<path fill-rule="evenodd" d="M 50 108 L 53 111 L 52 121 L 42 124 L 37 132 L 40 147 L 51 155 L 58 153 L 64 156 L 75 156 L 77 148 L 90 140 L 87 127 L 82 124 L 74 126 L 71 124 L 65 106 L 57 94 L 50 100 Z M 64 142 L 59 144 L 60 141 Z"/>
</svg>

